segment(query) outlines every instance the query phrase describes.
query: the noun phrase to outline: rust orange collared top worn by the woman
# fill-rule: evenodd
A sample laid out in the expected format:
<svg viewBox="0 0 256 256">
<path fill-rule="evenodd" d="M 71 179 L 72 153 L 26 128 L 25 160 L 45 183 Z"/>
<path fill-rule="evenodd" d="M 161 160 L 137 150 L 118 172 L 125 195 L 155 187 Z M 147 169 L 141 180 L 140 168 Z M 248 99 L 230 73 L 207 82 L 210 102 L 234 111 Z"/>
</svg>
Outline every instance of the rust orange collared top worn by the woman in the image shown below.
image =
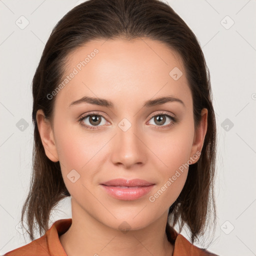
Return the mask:
<svg viewBox="0 0 256 256">
<path fill-rule="evenodd" d="M 56 220 L 44 235 L 5 253 L 3 256 L 67 256 L 59 241 L 59 235 L 66 232 L 71 223 L 72 218 Z M 196 247 L 183 235 L 177 233 L 169 224 L 166 225 L 166 234 L 169 242 L 174 244 L 172 256 L 217 256 L 207 250 Z"/>
</svg>

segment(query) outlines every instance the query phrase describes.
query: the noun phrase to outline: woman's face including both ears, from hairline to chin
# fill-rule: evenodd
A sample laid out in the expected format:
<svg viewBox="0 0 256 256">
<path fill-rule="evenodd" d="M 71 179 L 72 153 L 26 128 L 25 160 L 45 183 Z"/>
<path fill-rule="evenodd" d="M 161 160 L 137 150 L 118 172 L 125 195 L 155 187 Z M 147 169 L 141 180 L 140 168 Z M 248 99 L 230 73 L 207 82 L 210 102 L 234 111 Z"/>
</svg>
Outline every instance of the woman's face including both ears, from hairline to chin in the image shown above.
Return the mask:
<svg viewBox="0 0 256 256">
<path fill-rule="evenodd" d="M 52 128 L 40 121 L 40 111 L 37 123 L 46 155 L 60 162 L 72 214 L 113 228 L 126 221 L 133 229 L 166 217 L 206 131 L 205 122 L 194 129 L 178 55 L 149 38 L 95 40 L 69 54 L 65 75 L 52 93 Z M 83 97 L 97 101 L 77 101 Z M 169 99 L 155 100 L 160 97 Z M 113 196 L 102 183 L 115 178 L 153 185 L 139 197 Z"/>
</svg>

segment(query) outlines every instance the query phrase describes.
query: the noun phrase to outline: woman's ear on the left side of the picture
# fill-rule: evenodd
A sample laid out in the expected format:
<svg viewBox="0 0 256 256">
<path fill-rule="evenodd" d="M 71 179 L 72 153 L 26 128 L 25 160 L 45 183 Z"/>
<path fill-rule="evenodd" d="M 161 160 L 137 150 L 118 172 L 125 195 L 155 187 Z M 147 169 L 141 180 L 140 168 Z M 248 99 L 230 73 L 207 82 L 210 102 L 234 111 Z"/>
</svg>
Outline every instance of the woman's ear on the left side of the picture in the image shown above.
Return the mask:
<svg viewBox="0 0 256 256">
<path fill-rule="evenodd" d="M 53 130 L 49 120 L 45 118 L 42 109 L 39 109 L 36 112 L 36 122 L 46 156 L 51 161 L 57 162 L 59 159 L 54 141 Z"/>
</svg>

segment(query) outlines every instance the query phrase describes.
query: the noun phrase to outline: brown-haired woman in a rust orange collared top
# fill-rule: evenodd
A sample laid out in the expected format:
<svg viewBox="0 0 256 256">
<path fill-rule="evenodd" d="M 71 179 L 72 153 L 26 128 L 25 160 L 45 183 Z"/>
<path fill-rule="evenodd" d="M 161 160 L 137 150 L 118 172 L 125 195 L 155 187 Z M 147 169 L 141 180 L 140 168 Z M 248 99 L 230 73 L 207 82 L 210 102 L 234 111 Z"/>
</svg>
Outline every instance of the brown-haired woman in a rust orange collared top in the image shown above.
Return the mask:
<svg viewBox="0 0 256 256">
<path fill-rule="evenodd" d="M 50 34 L 32 92 L 33 175 L 21 216 L 32 241 L 5 255 L 214 255 L 193 245 L 211 218 L 215 227 L 209 72 L 170 6 L 74 7 Z M 67 196 L 72 218 L 48 229 Z"/>
</svg>

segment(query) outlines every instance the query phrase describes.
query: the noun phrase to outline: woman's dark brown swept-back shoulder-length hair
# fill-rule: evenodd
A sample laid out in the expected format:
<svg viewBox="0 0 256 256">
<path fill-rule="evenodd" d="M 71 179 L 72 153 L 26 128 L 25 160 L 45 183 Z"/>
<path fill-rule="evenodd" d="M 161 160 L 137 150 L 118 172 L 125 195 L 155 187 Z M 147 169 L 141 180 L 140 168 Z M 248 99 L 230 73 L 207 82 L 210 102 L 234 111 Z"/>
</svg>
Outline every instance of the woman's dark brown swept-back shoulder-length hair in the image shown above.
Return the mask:
<svg viewBox="0 0 256 256">
<path fill-rule="evenodd" d="M 53 28 L 42 52 L 32 80 L 34 145 L 30 190 L 22 207 L 27 232 L 34 239 L 34 225 L 40 235 L 46 231 L 49 214 L 64 197 L 70 196 L 63 182 L 60 164 L 47 158 L 36 123 L 36 111 L 42 109 L 51 119 L 54 99 L 47 98 L 62 80 L 68 54 L 93 39 L 148 37 L 165 43 L 178 53 L 192 92 L 194 125 L 200 111 L 207 108 L 207 132 L 200 158 L 189 166 L 184 187 L 170 206 L 168 221 L 184 224 L 190 230 L 192 243 L 205 232 L 207 220 L 213 216 L 216 126 L 211 99 L 209 70 L 194 33 L 178 14 L 159 0 L 88 0 L 68 11 Z M 35 220 L 35 222 L 34 222 Z M 212 226 L 211 226 L 212 227 Z M 212 229 L 211 229 L 212 230 Z"/>
</svg>

